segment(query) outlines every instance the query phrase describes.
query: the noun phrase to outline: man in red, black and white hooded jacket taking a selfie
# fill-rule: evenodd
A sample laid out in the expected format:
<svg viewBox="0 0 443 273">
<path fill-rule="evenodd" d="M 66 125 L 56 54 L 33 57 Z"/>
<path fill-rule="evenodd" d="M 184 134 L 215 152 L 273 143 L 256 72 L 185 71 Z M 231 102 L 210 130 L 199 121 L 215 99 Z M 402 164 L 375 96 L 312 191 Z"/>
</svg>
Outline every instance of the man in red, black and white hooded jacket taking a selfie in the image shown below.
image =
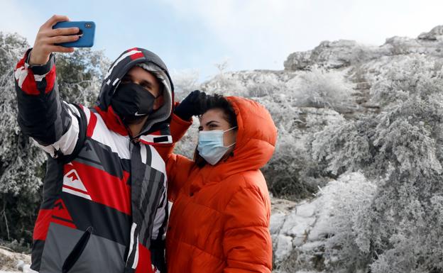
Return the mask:
<svg viewBox="0 0 443 273">
<path fill-rule="evenodd" d="M 48 153 L 43 202 L 33 233 L 38 272 L 165 272 L 165 163 L 173 83 L 153 52 L 126 50 L 111 65 L 97 106 L 58 96 L 53 52 L 78 28 L 38 31 L 15 70 L 18 123 Z"/>
</svg>

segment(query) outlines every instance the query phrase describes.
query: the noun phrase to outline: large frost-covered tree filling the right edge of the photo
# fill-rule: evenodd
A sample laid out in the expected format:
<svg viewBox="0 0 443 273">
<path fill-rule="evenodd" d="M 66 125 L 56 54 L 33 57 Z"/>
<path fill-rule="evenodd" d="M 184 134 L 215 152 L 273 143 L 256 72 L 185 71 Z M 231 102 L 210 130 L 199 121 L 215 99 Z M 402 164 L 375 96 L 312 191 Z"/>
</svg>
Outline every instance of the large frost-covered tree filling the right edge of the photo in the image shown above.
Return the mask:
<svg viewBox="0 0 443 273">
<path fill-rule="evenodd" d="M 352 268 L 349 257 L 368 257 L 362 267 L 374 273 L 442 272 L 442 64 L 423 55 L 388 63 L 371 96 L 381 113 L 327 128 L 312 143 L 330 172 L 361 170 L 377 186 L 352 225 L 338 231 L 358 246 L 341 248 L 339 264 Z"/>
</svg>

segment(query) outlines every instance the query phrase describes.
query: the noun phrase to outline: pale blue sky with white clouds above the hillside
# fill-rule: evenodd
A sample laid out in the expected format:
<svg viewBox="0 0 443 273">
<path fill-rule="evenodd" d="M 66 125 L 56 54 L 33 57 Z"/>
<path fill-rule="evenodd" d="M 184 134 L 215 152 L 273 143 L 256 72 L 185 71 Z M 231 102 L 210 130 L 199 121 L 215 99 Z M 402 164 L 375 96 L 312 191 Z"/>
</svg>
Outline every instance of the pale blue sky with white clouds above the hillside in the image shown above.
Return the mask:
<svg viewBox="0 0 443 273">
<path fill-rule="evenodd" d="M 226 71 L 284 69 L 296 51 L 323 40 L 383 45 L 443 25 L 441 0 L 2 0 L 0 31 L 33 45 L 53 14 L 96 23 L 94 50 L 111 60 L 128 48 L 159 55 L 170 72 L 198 73 L 199 81 Z"/>
</svg>

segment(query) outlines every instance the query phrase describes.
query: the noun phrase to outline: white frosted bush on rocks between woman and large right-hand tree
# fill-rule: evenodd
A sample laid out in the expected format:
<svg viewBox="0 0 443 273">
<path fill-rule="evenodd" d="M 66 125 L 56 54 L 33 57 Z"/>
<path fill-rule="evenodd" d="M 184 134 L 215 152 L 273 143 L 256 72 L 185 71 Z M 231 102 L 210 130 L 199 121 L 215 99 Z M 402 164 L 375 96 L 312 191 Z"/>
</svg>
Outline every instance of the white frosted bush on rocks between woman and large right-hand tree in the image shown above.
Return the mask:
<svg viewBox="0 0 443 273">
<path fill-rule="evenodd" d="M 358 240 L 359 217 L 371 206 L 375 183 L 359 172 L 342 174 L 319 191 L 319 202 L 327 211 L 329 238 L 324 245 L 329 270 L 357 272 L 371 261 L 368 242 Z"/>
</svg>

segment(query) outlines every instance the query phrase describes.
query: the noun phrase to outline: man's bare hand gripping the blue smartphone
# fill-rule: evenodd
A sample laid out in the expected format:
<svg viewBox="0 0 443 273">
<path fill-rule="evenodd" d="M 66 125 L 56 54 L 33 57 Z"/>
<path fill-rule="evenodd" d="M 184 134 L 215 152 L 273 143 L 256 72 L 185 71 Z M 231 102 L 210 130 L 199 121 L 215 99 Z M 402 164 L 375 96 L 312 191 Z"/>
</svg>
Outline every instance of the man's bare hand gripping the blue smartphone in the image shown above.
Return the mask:
<svg viewBox="0 0 443 273">
<path fill-rule="evenodd" d="M 49 61 L 52 52 L 73 52 L 74 48 L 65 48 L 58 43 L 74 42 L 80 38 L 80 35 L 75 35 L 79 32 L 79 28 L 56 28 L 53 26 L 58 22 L 69 21 L 67 16 L 54 15 L 49 18 L 38 30 L 37 37 L 33 50 L 31 50 L 31 57 L 29 65 L 44 65 Z"/>
</svg>

